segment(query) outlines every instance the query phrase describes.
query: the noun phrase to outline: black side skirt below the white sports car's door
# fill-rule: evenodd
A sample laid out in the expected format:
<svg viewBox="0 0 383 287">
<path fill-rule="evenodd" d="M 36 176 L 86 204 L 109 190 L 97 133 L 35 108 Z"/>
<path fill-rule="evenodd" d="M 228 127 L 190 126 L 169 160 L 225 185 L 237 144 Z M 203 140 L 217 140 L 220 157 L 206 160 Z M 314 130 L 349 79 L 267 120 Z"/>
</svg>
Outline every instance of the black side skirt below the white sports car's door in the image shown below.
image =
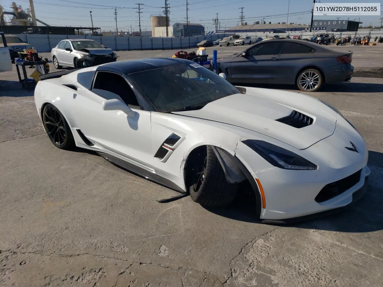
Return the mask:
<svg viewBox="0 0 383 287">
<path fill-rule="evenodd" d="M 128 163 L 127 161 L 121 160 L 118 157 L 114 157 L 113 155 L 109 155 L 107 153 L 103 152 L 97 152 L 101 157 L 105 158 L 105 160 L 109 161 L 110 163 L 113 163 L 120 168 L 123 168 L 126 171 L 129 171 L 130 173 L 134 173 L 138 176 L 141 176 L 145 179 L 148 179 L 154 183 L 160 184 L 162 186 L 165 186 L 167 188 L 173 189 L 174 191 L 180 192 L 180 193 L 187 193 L 183 191 L 177 184 L 173 183 L 169 179 L 163 178 L 162 176 L 159 176 L 158 174 L 151 173 L 150 171 L 144 170 L 143 168 L 140 168 L 136 165 L 133 165 L 131 163 Z"/>
</svg>

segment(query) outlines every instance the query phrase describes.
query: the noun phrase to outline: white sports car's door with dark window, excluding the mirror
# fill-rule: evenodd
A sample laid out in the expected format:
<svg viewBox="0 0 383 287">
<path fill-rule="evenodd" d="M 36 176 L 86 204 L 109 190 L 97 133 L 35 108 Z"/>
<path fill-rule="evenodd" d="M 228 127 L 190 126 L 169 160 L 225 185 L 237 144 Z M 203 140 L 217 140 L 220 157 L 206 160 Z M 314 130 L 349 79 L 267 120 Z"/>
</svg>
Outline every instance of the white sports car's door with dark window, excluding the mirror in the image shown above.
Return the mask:
<svg viewBox="0 0 383 287">
<path fill-rule="evenodd" d="M 92 73 L 79 73 L 78 82 L 89 83 Z M 136 115 L 128 117 L 122 111 L 104 111 L 102 102 L 107 99 L 123 101 Z M 141 110 L 133 90 L 121 75 L 96 72 L 92 88 L 77 91 L 73 102 L 76 109 L 74 124 L 85 137 L 131 164 L 154 171 L 151 164 L 154 160 L 151 154 L 151 112 Z"/>
</svg>

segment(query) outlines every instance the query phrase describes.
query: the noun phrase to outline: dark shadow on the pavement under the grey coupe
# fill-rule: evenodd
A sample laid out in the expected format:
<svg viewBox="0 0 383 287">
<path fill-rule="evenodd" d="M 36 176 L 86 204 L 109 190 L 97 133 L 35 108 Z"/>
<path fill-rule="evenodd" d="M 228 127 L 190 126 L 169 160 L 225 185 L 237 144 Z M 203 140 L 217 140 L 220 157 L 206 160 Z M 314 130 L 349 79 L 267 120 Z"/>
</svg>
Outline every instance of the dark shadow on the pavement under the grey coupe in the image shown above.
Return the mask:
<svg viewBox="0 0 383 287">
<path fill-rule="evenodd" d="M 301 91 L 295 85 L 268 85 L 268 84 L 235 84 L 236 86 L 248 86 L 254 88 L 267 88 L 267 89 L 279 89 L 279 90 L 294 90 Z M 383 84 L 372 84 L 372 83 L 353 83 L 343 82 L 336 84 L 324 85 L 319 92 L 350 92 L 350 93 L 382 93 Z M 308 92 L 310 93 L 310 92 Z"/>
</svg>

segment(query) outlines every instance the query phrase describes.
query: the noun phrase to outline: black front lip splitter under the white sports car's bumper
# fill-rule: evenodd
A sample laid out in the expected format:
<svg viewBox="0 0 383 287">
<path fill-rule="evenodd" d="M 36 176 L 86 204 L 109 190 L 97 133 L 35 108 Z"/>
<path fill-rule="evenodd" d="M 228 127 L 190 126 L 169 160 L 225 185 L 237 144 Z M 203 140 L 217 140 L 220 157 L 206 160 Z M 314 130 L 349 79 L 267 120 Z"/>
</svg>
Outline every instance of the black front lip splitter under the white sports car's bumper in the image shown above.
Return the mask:
<svg viewBox="0 0 383 287">
<path fill-rule="evenodd" d="M 304 215 L 304 216 L 300 216 L 300 217 L 288 218 L 288 219 L 278 219 L 278 220 L 272 220 L 272 219 L 262 220 L 261 219 L 260 222 L 261 223 L 270 223 L 270 224 L 290 224 L 290 223 L 306 221 L 306 220 L 310 220 L 310 219 L 316 219 L 318 217 L 338 213 L 340 211 L 349 209 L 350 207 L 355 205 L 355 203 L 358 202 L 363 197 L 363 195 L 365 195 L 365 193 L 367 192 L 367 186 L 368 186 L 368 176 L 365 177 L 364 185 L 352 194 L 352 201 L 345 206 L 326 210 L 326 211 L 322 211 L 322 212 L 318 212 L 318 213 L 314 213 L 314 214 Z"/>
</svg>

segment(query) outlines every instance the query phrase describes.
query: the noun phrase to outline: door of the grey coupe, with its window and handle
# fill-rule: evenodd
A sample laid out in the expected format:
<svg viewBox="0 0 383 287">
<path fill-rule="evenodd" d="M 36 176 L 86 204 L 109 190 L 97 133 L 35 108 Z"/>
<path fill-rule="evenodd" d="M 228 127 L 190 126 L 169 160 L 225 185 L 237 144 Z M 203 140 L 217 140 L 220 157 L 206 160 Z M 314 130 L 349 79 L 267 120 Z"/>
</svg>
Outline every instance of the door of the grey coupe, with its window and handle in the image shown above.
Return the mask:
<svg viewBox="0 0 383 287">
<path fill-rule="evenodd" d="M 280 80 L 282 47 L 283 42 L 270 40 L 250 47 L 244 55 L 238 54 L 231 62 L 229 82 L 273 83 Z"/>
</svg>

